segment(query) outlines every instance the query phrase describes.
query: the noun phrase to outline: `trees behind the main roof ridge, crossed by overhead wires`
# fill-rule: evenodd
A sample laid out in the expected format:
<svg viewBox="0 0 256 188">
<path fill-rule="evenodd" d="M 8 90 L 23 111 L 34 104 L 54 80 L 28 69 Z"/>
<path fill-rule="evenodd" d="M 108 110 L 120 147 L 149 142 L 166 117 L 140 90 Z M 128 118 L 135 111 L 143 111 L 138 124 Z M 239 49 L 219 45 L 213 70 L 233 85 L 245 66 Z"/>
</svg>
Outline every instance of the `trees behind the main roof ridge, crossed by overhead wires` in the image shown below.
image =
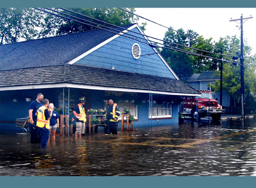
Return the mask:
<svg viewBox="0 0 256 188">
<path fill-rule="evenodd" d="M 75 17 L 93 21 L 95 24 L 106 25 L 108 27 L 110 26 L 108 24 L 102 23 L 101 21 L 88 19 L 83 16 L 77 15 L 75 13 L 70 13 L 68 11 L 64 11 L 61 9 L 57 9 L 57 10 L 60 12 L 70 14 Z M 86 15 L 95 19 L 99 19 L 117 26 L 132 24 L 135 21 L 139 20 L 139 18 L 134 17 L 133 14 L 127 13 L 117 8 L 70 8 L 68 10 L 80 13 L 81 15 Z M 135 9 L 129 8 L 128 11 L 135 12 Z M 143 24 L 142 27 L 144 28 L 145 26 L 146 25 Z M 76 21 L 72 21 L 72 20 L 68 20 L 68 19 L 64 19 L 64 18 L 52 16 L 52 15 L 46 15 L 44 17 L 43 23 L 41 23 L 41 28 L 42 30 L 40 31 L 40 36 L 50 37 L 52 35 L 62 35 L 67 33 L 77 33 L 82 31 L 94 30 L 96 27 L 88 26 L 86 24 L 80 24 Z"/>
</svg>

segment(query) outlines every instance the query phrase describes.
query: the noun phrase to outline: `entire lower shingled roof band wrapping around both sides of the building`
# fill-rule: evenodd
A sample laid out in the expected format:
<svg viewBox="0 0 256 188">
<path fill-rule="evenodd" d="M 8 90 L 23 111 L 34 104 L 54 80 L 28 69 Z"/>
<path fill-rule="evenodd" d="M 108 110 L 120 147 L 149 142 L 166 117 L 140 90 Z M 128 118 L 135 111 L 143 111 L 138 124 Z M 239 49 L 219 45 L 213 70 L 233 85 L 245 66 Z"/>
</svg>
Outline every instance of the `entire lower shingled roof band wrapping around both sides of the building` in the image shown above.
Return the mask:
<svg viewBox="0 0 256 188">
<path fill-rule="evenodd" d="M 0 87 L 73 83 L 113 88 L 154 90 L 164 92 L 199 92 L 181 80 L 127 71 L 72 64 L 64 66 L 26 68 L 2 71 Z M 49 79 L 50 78 L 50 79 Z"/>
</svg>

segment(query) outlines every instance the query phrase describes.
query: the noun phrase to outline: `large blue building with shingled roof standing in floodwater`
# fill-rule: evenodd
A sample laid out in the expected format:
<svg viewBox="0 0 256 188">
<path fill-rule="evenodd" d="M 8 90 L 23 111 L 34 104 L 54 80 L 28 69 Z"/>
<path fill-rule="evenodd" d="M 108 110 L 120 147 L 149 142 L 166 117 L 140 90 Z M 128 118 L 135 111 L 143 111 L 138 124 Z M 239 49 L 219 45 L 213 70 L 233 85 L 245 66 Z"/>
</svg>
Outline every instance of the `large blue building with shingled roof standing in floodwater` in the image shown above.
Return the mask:
<svg viewBox="0 0 256 188">
<path fill-rule="evenodd" d="M 177 124 L 182 98 L 199 92 L 176 76 L 137 24 L 115 29 L 120 33 L 92 30 L 1 45 L 0 129 L 16 129 L 39 92 L 67 112 L 80 96 L 86 110 L 113 99 L 121 112 L 132 109 L 136 127 L 149 119 L 153 126 Z"/>
</svg>

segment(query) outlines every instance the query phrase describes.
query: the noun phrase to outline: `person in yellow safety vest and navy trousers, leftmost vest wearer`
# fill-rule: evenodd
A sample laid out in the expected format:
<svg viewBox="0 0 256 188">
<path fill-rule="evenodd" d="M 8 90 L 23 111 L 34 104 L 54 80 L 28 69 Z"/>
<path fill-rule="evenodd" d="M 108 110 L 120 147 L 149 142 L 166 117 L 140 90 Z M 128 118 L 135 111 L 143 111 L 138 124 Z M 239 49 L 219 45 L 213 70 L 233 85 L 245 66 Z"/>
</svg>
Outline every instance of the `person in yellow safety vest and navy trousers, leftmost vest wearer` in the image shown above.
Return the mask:
<svg viewBox="0 0 256 188">
<path fill-rule="evenodd" d="M 43 106 L 37 110 L 37 127 L 39 127 L 41 143 L 40 147 L 45 148 L 50 135 L 50 119 L 52 110 L 48 109 L 49 100 L 43 99 Z"/>
</svg>

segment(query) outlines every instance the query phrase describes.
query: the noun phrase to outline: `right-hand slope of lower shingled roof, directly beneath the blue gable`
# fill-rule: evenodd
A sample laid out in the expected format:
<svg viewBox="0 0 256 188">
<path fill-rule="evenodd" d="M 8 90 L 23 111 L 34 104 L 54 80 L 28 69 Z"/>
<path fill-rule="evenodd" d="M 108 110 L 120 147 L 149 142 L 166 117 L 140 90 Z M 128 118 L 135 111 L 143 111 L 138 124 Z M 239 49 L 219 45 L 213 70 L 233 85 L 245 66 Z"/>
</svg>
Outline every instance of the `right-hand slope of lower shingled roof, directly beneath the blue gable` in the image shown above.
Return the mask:
<svg viewBox="0 0 256 188">
<path fill-rule="evenodd" d="M 183 81 L 167 77 L 81 65 L 70 66 L 70 75 L 74 74 L 75 77 L 70 76 L 71 83 L 177 93 L 199 93 Z"/>
</svg>

